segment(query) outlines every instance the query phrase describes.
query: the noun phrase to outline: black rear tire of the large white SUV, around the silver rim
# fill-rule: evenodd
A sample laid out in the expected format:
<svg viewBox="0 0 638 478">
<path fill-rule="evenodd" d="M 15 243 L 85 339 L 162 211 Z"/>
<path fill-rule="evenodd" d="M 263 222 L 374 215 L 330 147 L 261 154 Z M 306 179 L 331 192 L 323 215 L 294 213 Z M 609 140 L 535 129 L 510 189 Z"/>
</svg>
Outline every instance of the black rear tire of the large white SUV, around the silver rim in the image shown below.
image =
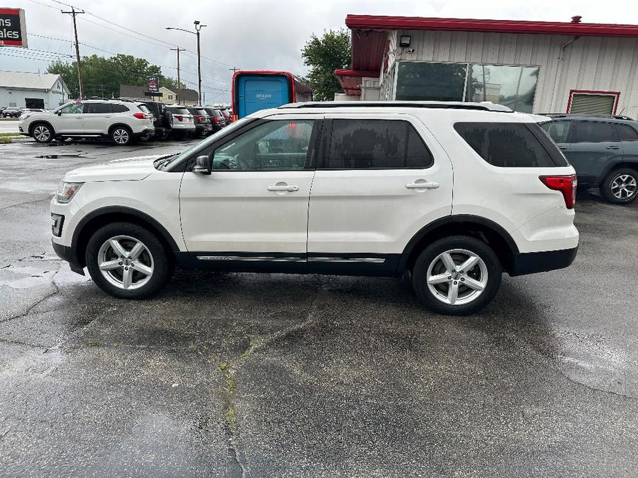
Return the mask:
<svg viewBox="0 0 638 478">
<path fill-rule="evenodd" d="M 446 251 L 462 250 L 468 251 L 477 256 L 482 264 L 477 262 L 470 267 L 469 271 L 453 271 L 450 276 L 446 273 L 448 267 L 443 265 L 443 259 L 440 258 Z M 464 258 L 469 258 L 465 252 L 453 252 L 450 254 L 455 265 L 463 263 Z M 437 295 L 430 291 L 428 287 L 428 269 L 432 265 L 432 275 L 441 277 L 441 282 L 432 284 L 437 291 L 437 295 L 446 300 L 451 300 L 452 296 L 447 295 L 450 287 L 457 287 L 458 297 L 461 303 L 449 304 L 437 298 Z M 437 271 L 437 269 L 440 269 Z M 462 272 L 462 273 L 461 273 Z M 412 267 L 412 288 L 419 300 L 428 307 L 428 309 L 437 313 L 446 315 L 468 315 L 475 313 L 489 304 L 501 284 L 501 263 L 499 258 L 485 242 L 469 236 L 450 236 L 432 242 L 428 247 L 423 249 L 414 267 Z M 446 276 L 446 277 L 443 277 Z M 473 287 L 468 287 L 470 280 L 472 284 L 481 282 L 484 284 L 482 291 L 477 291 Z M 454 285 L 453 285 L 454 284 Z M 474 298 L 472 298 L 474 297 Z M 467 301 L 466 303 L 463 303 Z"/>
</svg>

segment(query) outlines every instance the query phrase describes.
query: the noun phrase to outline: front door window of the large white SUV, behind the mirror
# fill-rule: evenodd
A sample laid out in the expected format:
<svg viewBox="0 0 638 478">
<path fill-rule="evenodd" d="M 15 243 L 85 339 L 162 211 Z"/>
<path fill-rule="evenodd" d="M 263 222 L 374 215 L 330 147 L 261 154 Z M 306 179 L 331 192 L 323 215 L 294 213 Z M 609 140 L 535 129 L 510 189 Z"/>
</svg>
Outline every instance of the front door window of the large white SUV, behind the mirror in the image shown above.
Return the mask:
<svg viewBox="0 0 638 478">
<path fill-rule="evenodd" d="M 262 171 L 306 167 L 315 121 L 268 121 L 215 149 L 212 169 Z"/>
</svg>

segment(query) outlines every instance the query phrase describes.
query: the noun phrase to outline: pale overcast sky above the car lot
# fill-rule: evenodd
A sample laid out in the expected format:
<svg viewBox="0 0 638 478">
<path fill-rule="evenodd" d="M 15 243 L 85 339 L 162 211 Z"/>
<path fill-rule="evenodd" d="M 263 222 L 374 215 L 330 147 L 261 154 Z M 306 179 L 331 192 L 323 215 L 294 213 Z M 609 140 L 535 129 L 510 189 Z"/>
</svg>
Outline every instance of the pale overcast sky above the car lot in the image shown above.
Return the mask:
<svg viewBox="0 0 638 478">
<path fill-rule="evenodd" d="M 6 0 L 3 3 L 25 10 L 30 49 L 74 54 L 71 19 L 60 12 L 68 7 L 54 0 Z M 633 1 L 615 2 L 615 8 L 606 8 L 602 2 L 578 0 L 69 0 L 65 3 L 90 12 L 78 16 L 80 43 L 107 52 L 141 56 L 161 65 L 163 74 L 172 77 L 176 76 L 176 60 L 170 45 L 134 32 L 195 52 L 194 35 L 165 28 L 192 29 L 196 19 L 208 25 L 201 32 L 201 54 L 206 57 L 201 62 L 202 85 L 208 90 L 207 103 L 230 100 L 230 91 L 220 91 L 230 90 L 230 66 L 305 74 L 300 54 L 303 43 L 313 32 L 321 34 L 323 30 L 343 28 L 349 13 L 545 21 L 569 21 L 579 14 L 584 22 L 638 23 L 638 3 Z M 34 37 L 34 34 L 66 41 Z M 86 45 L 80 48 L 81 55 L 109 56 Z M 40 56 L 45 55 L 42 52 L 30 53 L 32 59 L 17 58 L 28 56 L 28 50 L 0 50 L 0 70 L 44 72 L 53 58 Z M 181 79 L 197 89 L 195 56 L 182 54 L 181 68 Z"/>
</svg>

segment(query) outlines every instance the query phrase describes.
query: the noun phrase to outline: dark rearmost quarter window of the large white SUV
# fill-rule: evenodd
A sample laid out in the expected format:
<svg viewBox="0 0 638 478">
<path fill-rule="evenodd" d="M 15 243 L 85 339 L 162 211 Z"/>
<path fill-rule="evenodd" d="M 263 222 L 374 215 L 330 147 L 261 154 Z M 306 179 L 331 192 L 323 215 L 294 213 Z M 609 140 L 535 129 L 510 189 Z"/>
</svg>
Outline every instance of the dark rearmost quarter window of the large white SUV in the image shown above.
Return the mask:
<svg viewBox="0 0 638 478">
<path fill-rule="evenodd" d="M 490 165 L 567 166 L 567 160 L 536 123 L 455 123 L 454 129 Z"/>
</svg>

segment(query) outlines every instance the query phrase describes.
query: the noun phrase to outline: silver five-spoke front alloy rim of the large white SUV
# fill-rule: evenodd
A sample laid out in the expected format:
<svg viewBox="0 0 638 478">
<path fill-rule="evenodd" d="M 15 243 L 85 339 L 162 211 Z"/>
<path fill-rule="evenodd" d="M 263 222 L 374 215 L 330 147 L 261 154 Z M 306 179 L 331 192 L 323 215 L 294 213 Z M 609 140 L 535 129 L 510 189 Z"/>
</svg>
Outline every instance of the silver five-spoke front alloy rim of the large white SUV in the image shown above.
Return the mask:
<svg viewBox="0 0 638 478">
<path fill-rule="evenodd" d="M 130 236 L 114 236 L 101 245 L 97 264 L 102 276 L 118 289 L 139 289 L 154 271 L 148 247 Z"/>
</svg>

